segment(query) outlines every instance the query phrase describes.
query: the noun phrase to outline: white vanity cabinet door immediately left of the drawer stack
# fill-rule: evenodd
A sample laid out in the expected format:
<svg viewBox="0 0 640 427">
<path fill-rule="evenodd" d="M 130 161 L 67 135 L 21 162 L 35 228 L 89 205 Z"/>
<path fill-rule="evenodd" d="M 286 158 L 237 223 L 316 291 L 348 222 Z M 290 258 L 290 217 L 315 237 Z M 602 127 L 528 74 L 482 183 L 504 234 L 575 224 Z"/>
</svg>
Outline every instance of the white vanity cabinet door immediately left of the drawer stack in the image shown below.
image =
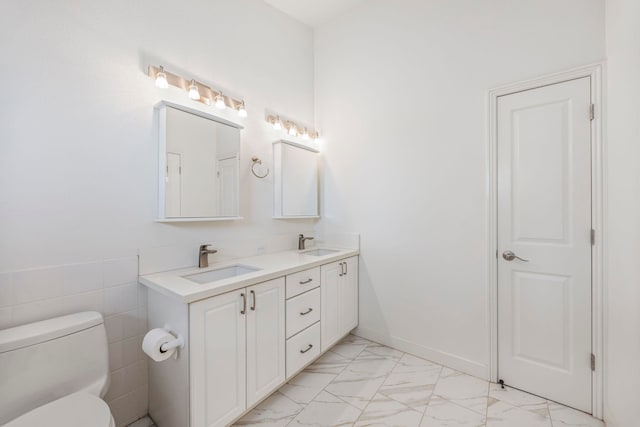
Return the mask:
<svg viewBox="0 0 640 427">
<path fill-rule="evenodd" d="M 247 288 L 247 406 L 285 381 L 284 277 Z"/>
</svg>

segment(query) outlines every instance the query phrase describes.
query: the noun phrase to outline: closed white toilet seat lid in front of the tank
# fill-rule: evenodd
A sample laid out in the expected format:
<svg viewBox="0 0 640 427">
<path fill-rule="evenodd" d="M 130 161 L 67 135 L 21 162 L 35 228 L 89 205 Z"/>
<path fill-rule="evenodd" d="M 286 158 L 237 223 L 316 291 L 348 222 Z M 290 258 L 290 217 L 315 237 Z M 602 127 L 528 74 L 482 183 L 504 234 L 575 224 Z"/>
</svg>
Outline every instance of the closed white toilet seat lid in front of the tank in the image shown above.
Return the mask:
<svg viewBox="0 0 640 427">
<path fill-rule="evenodd" d="M 73 393 L 42 405 L 3 427 L 115 427 L 109 406 L 93 394 Z"/>
</svg>

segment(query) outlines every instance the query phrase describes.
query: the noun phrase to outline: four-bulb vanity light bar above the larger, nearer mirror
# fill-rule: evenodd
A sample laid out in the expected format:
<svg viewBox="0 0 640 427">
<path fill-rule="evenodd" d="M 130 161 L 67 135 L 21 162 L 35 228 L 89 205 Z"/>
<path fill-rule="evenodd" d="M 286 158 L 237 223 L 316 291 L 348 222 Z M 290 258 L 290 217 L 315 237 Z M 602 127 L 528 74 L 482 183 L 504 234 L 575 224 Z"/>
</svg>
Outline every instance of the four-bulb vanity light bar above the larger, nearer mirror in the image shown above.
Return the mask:
<svg viewBox="0 0 640 427">
<path fill-rule="evenodd" d="M 161 65 L 157 67 L 149 65 L 148 75 L 154 80 L 158 88 L 166 89 L 169 86 L 174 86 L 186 90 L 189 98 L 194 101 L 202 102 L 205 105 L 215 104 L 219 109 L 229 107 L 236 110 L 239 117 L 247 117 L 243 99 L 234 99 L 224 95 L 221 90 L 213 90 L 194 79 L 187 80 L 177 74 L 170 73 Z"/>
</svg>

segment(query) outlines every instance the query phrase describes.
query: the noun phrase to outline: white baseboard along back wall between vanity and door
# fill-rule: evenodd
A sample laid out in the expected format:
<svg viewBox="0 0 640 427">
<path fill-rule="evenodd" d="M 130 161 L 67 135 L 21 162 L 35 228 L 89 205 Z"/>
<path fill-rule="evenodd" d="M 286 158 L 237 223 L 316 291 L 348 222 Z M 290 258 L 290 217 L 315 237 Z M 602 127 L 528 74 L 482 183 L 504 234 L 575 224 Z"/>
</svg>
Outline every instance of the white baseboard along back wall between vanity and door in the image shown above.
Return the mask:
<svg viewBox="0 0 640 427">
<path fill-rule="evenodd" d="M 352 332 L 362 338 L 366 338 L 371 341 L 375 341 L 380 344 L 393 347 L 395 349 L 404 351 L 405 353 L 412 354 L 414 356 L 427 359 L 431 362 L 438 363 L 457 371 L 464 372 L 474 377 L 482 378 L 483 380 L 489 380 L 489 366 L 482 363 L 474 362 L 473 360 L 465 359 L 464 357 L 456 356 L 455 354 L 446 353 L 441 350 L 436 350 L 430 347 L 425 347 L 420 344 L 416 344 L 402 338 L 392 337 L 387 334 L 383 334 L 372 329 L 358 327 Z"/>
</svg>

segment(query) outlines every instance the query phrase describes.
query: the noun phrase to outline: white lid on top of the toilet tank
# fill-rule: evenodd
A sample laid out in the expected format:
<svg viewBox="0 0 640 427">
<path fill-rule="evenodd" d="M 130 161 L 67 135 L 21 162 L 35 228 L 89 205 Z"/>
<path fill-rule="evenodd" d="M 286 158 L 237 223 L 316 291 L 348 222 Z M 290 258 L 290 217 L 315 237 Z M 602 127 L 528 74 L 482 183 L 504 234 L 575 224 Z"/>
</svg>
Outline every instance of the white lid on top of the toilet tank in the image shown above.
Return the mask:
<svg viewBox="0 0 640 427">
<path fill-rule="evenodd" d="M 103 323 L 97 311 L 84 311 L 0 330 L 0 353 L 42 343 Z"/>
</svg>

